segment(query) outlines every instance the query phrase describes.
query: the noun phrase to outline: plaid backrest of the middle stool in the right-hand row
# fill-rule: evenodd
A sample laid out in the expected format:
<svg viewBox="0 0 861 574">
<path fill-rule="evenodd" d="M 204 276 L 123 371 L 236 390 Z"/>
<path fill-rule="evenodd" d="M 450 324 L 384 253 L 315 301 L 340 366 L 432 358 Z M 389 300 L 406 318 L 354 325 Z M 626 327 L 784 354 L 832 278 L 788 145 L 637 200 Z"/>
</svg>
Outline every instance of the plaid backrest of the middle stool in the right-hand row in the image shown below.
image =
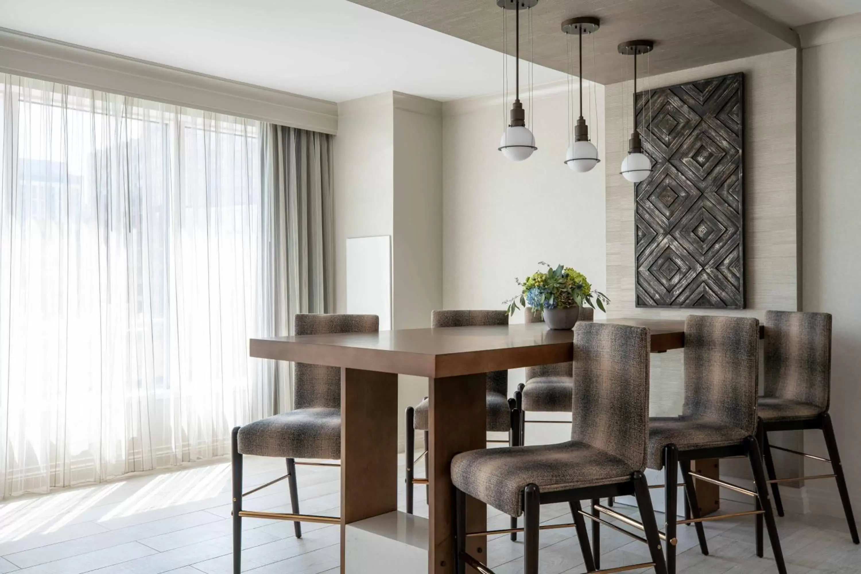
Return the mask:
<svg viewBox="0 0 861 574">
<path fill-rule="evenodd" d="M 756 432 L 759 320 L 689 315 L 684 321 L 685 416 Z"/>
</svg>

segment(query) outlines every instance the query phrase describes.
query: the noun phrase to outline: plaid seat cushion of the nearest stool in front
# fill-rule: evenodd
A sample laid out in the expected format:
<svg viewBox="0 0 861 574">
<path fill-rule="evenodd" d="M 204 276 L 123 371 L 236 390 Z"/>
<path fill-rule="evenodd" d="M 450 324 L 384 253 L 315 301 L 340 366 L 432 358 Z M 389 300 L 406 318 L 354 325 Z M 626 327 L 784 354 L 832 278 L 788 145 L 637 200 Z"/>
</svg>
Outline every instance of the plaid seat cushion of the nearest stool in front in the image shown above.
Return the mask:
<svg viewBox="0 0 861 574">
<path fill-rule="evenodd" d="M 625 482 L 638 469 L 584 442 L 485 448 L 455 455 L 451 480 L 469 496 L 508 515 L 523 512 L 523 489 L 542 492 Z"/>
</svg>

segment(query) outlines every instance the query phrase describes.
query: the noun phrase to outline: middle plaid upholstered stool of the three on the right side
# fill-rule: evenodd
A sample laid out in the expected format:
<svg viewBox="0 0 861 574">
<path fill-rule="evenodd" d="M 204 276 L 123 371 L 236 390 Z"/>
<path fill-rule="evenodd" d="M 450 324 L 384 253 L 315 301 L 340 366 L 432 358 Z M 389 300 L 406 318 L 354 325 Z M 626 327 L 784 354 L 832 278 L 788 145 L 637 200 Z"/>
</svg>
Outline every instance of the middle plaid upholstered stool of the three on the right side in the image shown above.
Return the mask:
<svg viewBox="0 0 861 574">
<path fill-rule="evenodd" d="M 757 555 L 762 557 L 761 521 L 765 518 L 777 570 L 785 574 L 783 552 L 771 512 L 771 501 L 757 433 L 756 395 L 759 373 L 759 321 L 745 317 L 691 315 L 684 322 L 684 403 L 682 415 L 650 418 L 649 468 L 664 469 L 666 488 L 666 537 L 674 538 L 678 524 L 697 527 L 700 549 L 708 554 L 693 479 L 708 480 L 753 497 L 757 518 Z M 756 491 L 691 472 L 691 460 L 746 456 L 750 460 Z M 677 521 L 677 466 L 681 467 L 690 520 Z M 714 517 L 710 517 L 714 519 Z M 676 549 L 666 545 L 666 568 L 676 570 Z"/>
</svg>

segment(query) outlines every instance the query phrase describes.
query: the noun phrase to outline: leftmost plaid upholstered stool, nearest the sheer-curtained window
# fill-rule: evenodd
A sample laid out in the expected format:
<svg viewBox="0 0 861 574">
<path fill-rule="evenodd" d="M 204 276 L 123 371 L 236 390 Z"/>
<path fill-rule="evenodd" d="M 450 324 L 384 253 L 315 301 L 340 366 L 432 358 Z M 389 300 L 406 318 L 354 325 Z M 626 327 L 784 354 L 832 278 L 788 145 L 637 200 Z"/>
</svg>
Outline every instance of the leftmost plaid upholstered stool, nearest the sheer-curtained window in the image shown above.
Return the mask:
<svg viewBox="0 0 861 574">
<path fill-rule="evenodd" d="M 379 330 L 376 315 L 297 314 L 296 335 L 326 333 L 373 333 Z M 233 474 L 233 574 L 241 570 L 242 518 L 293 520 L 296 538 L 302 537 L 300 522 L 339 524 L 337 516 L 299 514 L 295 459 L 341 459 L 341 369 L 297 362 L 293 381 L 294 410 L 236 427 L 232 432 Z M 287 474 L 257 488 L 242 492 L 242 456 L 273 456 L 287 460 Z M 339 466 L 337 463 L 307 463 Z M 242 509 L 243 497 L 288 479 L 292 514 Z"/>
</svg>

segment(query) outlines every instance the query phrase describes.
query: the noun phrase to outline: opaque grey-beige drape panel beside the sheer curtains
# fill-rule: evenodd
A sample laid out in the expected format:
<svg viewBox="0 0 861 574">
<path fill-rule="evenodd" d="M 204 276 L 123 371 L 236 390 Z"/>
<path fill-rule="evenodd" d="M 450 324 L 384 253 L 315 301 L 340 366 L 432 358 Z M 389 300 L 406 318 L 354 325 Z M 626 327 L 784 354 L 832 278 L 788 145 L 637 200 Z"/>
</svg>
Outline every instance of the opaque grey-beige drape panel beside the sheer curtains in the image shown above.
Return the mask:
<svg viewBox="0 0 861 574">
<path fill-rule="evenodd" d="M 331 135 L 269 124 L 264 179 L 271 193 L 272 296 L 277 335 L 293 334 L 296 313 L 334 307 L 335 231 Z M 276 404 L 292 408 L 288 369 L 279 361 Z"/>
</svg>

